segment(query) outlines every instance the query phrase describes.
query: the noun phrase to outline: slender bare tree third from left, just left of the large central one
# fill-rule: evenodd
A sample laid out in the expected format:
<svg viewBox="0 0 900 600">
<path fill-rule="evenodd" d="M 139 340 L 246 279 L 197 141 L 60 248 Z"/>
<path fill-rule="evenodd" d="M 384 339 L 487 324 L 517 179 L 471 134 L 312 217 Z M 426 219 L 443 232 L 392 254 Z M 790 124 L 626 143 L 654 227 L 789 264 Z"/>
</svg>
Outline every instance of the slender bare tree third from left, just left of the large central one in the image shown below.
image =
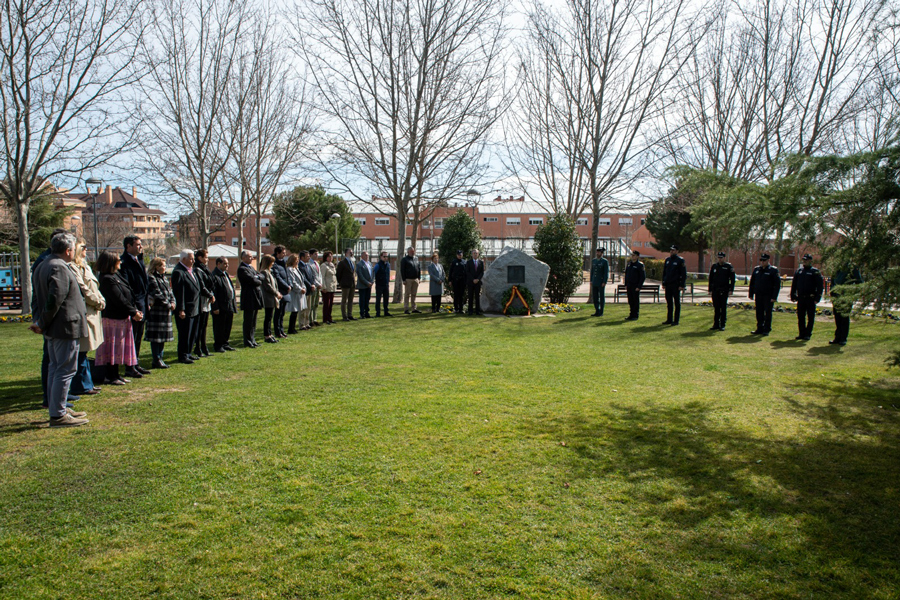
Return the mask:
<svg viewBox="0 0 900 600">
<path fill-rule="evenodd" d="M 243 247 L 243 220 L 256 216 L 256 251 L 262 254 L 262 215 L 272 196 L 298 165 L 312 131 L 312 104 L 292 70 L 285 36 L 274 15 L 260 12 L 249 28 L 230 93 L 229 128 L 234 153 L 227 178 Z"/>
</svg>

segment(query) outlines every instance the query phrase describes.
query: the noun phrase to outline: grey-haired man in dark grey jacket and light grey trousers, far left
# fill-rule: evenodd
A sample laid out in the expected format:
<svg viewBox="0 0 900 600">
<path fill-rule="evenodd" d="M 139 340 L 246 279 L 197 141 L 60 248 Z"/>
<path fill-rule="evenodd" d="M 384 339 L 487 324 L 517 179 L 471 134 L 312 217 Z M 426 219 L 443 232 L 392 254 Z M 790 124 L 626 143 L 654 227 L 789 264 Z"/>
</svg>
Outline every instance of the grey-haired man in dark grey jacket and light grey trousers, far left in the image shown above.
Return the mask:
<svg viewBox="0 0 900 600">
<path fill-rule="evenodd" d="M 59 233 L 50 240 L 50 255 L 34 272 L 30 329 L 42 333 L 47 343 L 50 427 L 77 427 L 88 422 L 85 413 L 66 408 L 69 386 L 78 370 L 79 339 L 87 336 L 84 297 L 67 266 L 74 258 L 75 236 Z"/>
</svg>

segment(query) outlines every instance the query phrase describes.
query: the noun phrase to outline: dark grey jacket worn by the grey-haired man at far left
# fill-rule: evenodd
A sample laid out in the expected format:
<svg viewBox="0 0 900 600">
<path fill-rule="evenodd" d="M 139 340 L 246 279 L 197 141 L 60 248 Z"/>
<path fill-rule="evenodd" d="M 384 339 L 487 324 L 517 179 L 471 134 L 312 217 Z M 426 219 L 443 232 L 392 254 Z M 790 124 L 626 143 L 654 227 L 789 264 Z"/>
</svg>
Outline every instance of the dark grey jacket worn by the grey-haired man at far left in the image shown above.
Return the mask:
<svg viewBox="0 0 900 600">
<path fill-rule="evenodd" d="M 84 297 L 66 261 L 50 255 L 34 271 L 32 321 L 53 339 L 77 340 L 87 335 Z"/>
</svg>

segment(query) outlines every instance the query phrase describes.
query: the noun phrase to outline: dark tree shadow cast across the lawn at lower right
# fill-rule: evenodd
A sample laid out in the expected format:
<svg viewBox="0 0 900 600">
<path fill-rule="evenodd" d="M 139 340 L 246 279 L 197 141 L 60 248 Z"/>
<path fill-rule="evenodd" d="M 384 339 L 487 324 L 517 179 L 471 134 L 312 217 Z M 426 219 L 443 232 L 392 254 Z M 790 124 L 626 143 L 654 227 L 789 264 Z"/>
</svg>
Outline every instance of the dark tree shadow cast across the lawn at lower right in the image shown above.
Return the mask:
<svg viewBox="0 0 900 600">
<path fill-rule="evenodd" d="M 569 481 L 624 486 L 626 510 L 679 532 L 667 543 L 691 560 L 779 574 L 775 595 L 897 589 L 900 412 L 890 401 L 900 384 L 803 389 L 816 400 L 783 399 L 817 432 L 802 439 L 730 428 L 699 402 L 612 405 L 536 427 L 566 441 Z"/>
</svg>

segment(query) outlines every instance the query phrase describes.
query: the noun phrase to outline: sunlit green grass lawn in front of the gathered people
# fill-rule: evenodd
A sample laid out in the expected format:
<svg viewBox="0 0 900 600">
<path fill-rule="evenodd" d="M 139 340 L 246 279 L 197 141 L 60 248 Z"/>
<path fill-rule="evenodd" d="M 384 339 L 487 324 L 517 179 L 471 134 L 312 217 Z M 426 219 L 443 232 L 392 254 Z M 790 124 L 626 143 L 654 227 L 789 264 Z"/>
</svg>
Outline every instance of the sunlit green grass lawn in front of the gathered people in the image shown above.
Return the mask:
<svg viewBox="0 0 900 600">
<path fill-rule="evenodd" d="M 0 325 L 0 597 L 900 597 L 900 325 L 664 310 L 321 327 L 70 430 Z"/>
</svg>

